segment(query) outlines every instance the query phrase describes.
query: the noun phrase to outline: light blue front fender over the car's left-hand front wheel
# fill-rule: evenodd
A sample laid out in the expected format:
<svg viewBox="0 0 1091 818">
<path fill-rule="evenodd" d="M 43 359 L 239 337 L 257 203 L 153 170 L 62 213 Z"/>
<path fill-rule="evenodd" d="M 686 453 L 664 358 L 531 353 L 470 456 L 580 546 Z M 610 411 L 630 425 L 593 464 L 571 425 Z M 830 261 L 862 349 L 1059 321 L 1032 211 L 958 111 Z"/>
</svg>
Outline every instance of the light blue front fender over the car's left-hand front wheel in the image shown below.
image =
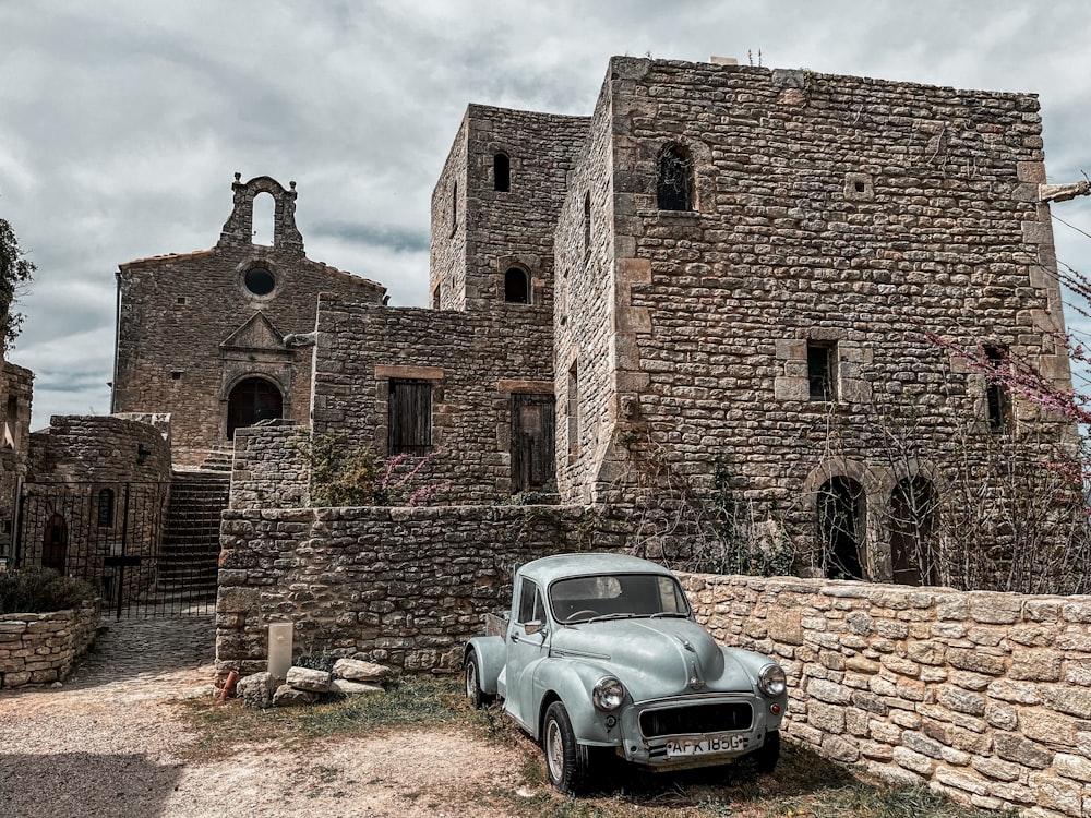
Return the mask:
<svg viewBox="0 0 1091 818">
<path fill-rule="evenodd" d="M 580 744 L 615 745 L 621 742 L 618 726 L 608 726 L 610 713 L 596 709 L 591 690 L 607 669 L 591 662 L 553 658 L 541 661 L 535 669 L 535 705 L 538 718 L 527 725 L 535 738 L 541 738 L 542 719 L 552 701 L 560 699 L 568 712 L 568 721 Z M 626 697 L 627 698 L 627 697 Z M 623 706 L 624 707 L 624 706 Z M 620 712 L 620 710 L 619 710 Z"/>
</svg>

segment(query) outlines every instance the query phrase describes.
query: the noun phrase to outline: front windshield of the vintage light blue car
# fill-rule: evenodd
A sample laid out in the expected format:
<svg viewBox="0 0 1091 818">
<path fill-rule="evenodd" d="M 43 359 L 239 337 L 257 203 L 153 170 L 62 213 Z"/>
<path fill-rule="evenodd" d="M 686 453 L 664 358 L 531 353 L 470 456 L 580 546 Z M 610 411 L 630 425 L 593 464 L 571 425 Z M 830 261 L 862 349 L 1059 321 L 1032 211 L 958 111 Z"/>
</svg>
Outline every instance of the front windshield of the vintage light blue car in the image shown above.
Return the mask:
<svg viewBox="0 0 1091 818">
<path fill-rule="evenodd" d="M 606 574 L 559 579 L 549 589 L 553 616 L 563 625 L 636 616 L 688 616 L 678 580 L 657 574 Z"/>
</svg>

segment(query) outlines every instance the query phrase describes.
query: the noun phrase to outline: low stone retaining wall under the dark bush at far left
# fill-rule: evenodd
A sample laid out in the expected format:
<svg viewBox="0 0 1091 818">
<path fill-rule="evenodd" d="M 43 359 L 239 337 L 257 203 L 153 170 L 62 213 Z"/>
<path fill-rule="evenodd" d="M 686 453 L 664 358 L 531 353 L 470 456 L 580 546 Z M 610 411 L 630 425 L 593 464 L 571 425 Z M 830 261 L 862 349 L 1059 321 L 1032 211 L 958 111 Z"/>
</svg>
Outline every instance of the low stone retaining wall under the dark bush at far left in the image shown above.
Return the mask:
<svg viewBox="0 0 1091 818">
<path fill-rule="evenodd" d="M 98 634 L 98 602 L 80 610 L 0 614 L 0 688 L 63 682 Z"/>
</svg>

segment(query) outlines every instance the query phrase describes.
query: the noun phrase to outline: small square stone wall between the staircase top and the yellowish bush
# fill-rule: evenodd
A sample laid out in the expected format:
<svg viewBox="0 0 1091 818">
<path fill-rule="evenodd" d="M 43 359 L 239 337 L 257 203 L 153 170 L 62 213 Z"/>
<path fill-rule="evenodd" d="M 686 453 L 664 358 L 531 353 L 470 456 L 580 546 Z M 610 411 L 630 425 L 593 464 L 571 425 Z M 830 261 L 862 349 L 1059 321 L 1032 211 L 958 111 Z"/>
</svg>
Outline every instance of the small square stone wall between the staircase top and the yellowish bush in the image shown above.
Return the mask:
<svg viewBox="0 0 1091 818">
<path fill-rule="evenodd" d="M 311 430 L 291 424 L 250 426 L 235 435 L 231 508 L 310 505 L 305 444 Z"/>
</svg>

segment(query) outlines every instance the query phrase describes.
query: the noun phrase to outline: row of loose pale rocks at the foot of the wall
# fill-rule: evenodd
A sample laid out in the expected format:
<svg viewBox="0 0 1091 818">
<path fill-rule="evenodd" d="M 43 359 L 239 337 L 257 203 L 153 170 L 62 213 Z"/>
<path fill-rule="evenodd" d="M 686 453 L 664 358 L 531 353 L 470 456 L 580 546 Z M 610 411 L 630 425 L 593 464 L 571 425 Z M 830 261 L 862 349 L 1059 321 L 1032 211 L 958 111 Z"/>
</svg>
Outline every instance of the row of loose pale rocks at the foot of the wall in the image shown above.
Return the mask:
<svg viewBox="0 0 1091 818">
<path fill-rule="evenodd" d="M 333 671 L 293 665 L 288 677 L 276 678 L 272 673 L 254 673 L 239 681 L 236 695 L 247 707 L 295 707 L 313 705 L 328 697 L 371 696 L 384 693 L 382 682 L 391 669 L 359 659 L 338 659 Z"/>
</svg>

